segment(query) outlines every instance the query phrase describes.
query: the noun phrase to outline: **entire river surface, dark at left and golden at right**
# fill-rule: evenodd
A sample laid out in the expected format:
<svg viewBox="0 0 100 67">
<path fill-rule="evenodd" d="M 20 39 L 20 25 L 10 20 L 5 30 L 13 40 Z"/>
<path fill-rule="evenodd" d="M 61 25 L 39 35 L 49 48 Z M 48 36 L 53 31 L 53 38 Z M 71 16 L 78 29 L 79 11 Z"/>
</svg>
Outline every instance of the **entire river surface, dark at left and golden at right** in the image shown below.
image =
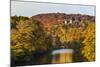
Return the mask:
<svg viewBox="0 0 100 67">
<path fill-rule="evenodd" d="M 25 66 L 25 65 L 40 65 L 40 64 L 58 64 L 58 63 L 70 63 L 72 60 L 72 49 L 58 49 L 47 52 L 34 53 L 31 57 L 24 58 L 25 60 L 14 61 L 13 65 Z"/>
</svg>

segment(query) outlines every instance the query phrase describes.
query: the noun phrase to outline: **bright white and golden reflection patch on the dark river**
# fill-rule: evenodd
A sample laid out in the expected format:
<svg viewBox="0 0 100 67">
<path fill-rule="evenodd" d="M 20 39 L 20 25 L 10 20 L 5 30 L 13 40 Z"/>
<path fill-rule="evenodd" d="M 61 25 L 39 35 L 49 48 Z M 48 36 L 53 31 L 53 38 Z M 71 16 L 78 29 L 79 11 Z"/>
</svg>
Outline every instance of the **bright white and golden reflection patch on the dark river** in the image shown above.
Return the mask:
<svg viewBox="0 0 100 67">
<path fill-rule="evenodd" d="M 70 63 L 72 59 L 72 49 L 59 49 L 52 52 L 52 63 Z"/>
</svg>

